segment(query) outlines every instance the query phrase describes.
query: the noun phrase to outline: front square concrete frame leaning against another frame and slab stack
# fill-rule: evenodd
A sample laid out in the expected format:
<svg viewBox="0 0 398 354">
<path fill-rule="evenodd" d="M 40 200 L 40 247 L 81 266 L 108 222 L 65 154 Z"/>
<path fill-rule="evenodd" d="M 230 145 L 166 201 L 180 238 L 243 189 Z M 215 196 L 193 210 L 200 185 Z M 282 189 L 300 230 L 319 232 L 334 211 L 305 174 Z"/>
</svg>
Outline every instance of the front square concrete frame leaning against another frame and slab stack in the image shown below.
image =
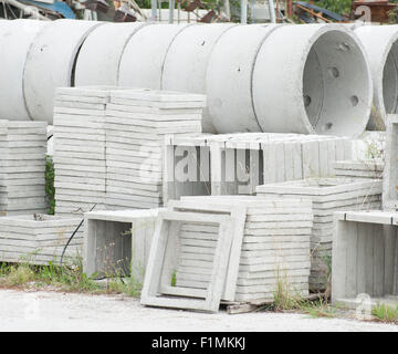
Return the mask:
<svg viewBox="0 0 398 354">
<path fill-rule="evenodd" d="M 171 287 L 176 244 L 181 222 L 219 225 L 211 277 L 207 290 Z M 150 306 L 218 312 L 227 277 L 233 220 L 230 216 L 199 212 L 159 212 L 140 303 Z M 171 295 L 171 296 L 170 296 Z"/>
</svg>

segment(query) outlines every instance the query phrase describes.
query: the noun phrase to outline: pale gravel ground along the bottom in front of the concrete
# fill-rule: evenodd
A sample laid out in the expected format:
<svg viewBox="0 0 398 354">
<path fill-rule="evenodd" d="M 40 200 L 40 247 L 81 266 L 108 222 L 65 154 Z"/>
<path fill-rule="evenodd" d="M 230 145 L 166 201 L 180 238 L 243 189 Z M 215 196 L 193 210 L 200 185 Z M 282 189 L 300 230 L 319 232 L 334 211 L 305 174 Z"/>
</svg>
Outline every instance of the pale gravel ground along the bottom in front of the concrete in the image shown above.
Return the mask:
<svg viewBox="0 0 398 354">
<path fill-rule="evenodd" d="M 122 295 L 0 290 L 0 331 L 398 332 L 398 326 L 286 313 L 229 315 L 151 309 Z"/>
</svg>

